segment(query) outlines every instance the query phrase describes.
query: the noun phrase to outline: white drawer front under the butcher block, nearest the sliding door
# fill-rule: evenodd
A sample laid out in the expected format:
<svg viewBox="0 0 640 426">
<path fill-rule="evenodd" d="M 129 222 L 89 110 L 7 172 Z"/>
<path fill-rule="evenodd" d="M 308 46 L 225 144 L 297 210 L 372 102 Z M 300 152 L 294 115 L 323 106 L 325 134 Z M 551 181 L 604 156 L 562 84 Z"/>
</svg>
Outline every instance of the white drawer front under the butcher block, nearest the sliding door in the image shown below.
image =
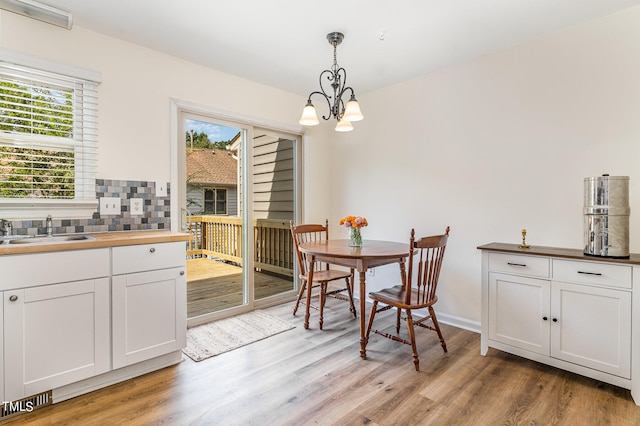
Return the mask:
<svg viewBox="0 0 640 426">
<path fill-rule="evenodd" d="M 113 275 L 186 265 L 184 242 L 141 244 L 114 247 L 112 250 Z"/>
</svg>

